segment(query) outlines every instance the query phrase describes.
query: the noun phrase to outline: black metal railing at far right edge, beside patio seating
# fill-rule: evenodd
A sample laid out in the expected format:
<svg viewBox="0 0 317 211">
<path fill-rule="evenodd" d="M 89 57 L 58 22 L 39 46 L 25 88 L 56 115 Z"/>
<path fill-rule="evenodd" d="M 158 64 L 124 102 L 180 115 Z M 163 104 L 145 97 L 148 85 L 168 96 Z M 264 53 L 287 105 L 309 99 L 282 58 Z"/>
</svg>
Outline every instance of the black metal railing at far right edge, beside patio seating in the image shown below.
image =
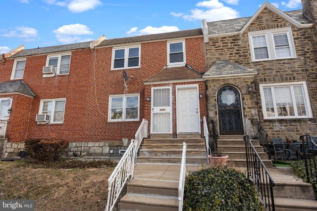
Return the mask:
<svg viewBox="0 0 317 211">
<path fill-rule="evenodd" d="M 299 139 L 303 142 L 302 156 L 305 161 L 307 182 L 317 181 L 317 164 L 315 159 L 317 155 L 317 138 L 312 138 L 311 135 L 301 135 Z M 317 189 L 316 182 L 313 182 L 312 185 L 315 185 L 314 189 Z"/>
</svg>

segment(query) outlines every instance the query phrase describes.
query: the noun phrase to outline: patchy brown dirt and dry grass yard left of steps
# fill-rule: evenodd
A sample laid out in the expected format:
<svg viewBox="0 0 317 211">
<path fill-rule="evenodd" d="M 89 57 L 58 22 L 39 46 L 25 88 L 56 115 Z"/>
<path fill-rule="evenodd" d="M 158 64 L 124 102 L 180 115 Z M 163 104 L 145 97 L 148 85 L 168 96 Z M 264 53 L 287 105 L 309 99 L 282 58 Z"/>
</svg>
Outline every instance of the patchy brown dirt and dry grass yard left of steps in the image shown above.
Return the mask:
<svg viewBox="0 0 317 211">
<path fill-rule="evenodd" d="M 35 168 L 0 162 L 0 199 L 35 200 L 35 211 L 104 211 L 114 167 Z"/>
</svg>

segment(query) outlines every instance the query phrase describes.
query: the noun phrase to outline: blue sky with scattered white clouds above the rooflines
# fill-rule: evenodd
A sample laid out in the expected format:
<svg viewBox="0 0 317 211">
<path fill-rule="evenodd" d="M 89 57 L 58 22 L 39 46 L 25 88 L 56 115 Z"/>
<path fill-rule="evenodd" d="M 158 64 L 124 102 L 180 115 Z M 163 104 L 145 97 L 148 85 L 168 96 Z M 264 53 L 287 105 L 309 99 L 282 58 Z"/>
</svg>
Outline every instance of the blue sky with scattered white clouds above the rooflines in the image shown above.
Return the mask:
<svg viewBox="0 0 317 211">
<path fill-rule="evenodd" d="M 282 11 L 301 0 L 267 0 Z M 0 54 L 24 49 L 201 28 L 250 17 L 265 0 L 1 0 Z"/>
</svg>

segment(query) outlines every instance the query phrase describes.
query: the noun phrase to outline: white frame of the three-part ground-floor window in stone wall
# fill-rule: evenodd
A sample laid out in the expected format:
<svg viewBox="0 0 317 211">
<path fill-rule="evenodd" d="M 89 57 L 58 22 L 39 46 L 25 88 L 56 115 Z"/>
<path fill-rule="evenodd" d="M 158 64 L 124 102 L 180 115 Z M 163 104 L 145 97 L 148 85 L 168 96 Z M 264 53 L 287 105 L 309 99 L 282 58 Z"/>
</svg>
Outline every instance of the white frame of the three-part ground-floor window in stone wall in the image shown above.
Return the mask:
<svg viewBox="0 0 317 211">
<path fill-rule="evenodd" d="M 263 117 L 266 120 L 269 119 L 299 119 L 299 118 L 312 118 L 312 108 L 311 108 L 311 103 L 310 103 L 310 98 L 309 98 L 309 92 L 307 88 L 306 82 L 286 82 L 286 83 L 272 83 L 272 84 L 260 84 L 260 94 L 261 94 L 261 101 L 262 101 L 262 109 L 263 109 Z M 304 104 L 305 104 L 305 110 L 306 110 L 306 115 L 305 116 L 298 116 L 297 112 L 297 107 L 294 99 L 294 89 L 292 87 L 294 86 L 301 86 L 303 90 L 303 98 L 304 98 Z M 294 116 L 278 116 L 277 113 L 277 106 L 276 106 L 276 101 L 275 101 L 275 93 L 273 88 L 274 87 L 291 87 L 291 97 L 292 97 L 292 104 L 293 104 L 293 109 L 294 109 Z M 270 113 L 270 115 L 274 116 L 268 116 L 266 111 L 266 106 L 265 106 L 265 99 L 264 99 L 264 88 L 271 88 L 272 92 L 272 103 L 273 103 L 273 108 L 274 111 Z"/>
</svg>

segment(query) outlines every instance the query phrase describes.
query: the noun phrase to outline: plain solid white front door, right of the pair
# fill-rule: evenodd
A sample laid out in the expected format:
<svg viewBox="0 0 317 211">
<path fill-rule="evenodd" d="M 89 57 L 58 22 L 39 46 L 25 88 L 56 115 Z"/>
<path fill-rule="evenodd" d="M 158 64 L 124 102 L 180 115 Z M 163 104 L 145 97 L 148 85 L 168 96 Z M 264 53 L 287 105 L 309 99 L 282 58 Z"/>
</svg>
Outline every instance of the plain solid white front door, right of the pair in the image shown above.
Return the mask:
<svg viewBox="0 0 317 211">
<path fill-rule="evenodd" d="M 198 87 L 177 89 L 177 133 L 200 132 Z"/>
</svg>

